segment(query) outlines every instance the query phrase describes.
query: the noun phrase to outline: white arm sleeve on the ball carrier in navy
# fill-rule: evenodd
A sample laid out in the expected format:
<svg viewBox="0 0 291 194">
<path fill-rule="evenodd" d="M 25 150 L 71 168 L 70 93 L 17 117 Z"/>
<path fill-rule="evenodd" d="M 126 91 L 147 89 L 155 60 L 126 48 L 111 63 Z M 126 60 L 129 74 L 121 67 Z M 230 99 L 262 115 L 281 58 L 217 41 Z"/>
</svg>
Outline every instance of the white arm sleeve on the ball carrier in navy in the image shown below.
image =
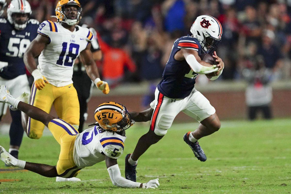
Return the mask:
<svg viewBox="0 0 291 194">
<path fill-rule="evenodd" d="M 186 57 L 186 61 L 191 69 L 198 74 L 207 74 L 218 71 L 217 65 L 213 65 L 212 67 L 205 67 L 201 65 L 192 54 Z"/>
</svg>

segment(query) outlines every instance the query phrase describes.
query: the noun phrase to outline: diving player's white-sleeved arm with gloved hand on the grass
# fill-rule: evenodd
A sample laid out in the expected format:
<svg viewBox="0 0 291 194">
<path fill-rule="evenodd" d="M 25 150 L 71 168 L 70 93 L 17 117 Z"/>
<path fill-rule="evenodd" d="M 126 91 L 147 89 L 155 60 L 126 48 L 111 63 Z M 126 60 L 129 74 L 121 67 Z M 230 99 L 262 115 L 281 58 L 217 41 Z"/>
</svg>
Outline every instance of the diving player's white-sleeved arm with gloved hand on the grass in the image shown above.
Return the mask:
<svg viewBox="0 0 291 194">
<path fill-rule="evenodd" d="M 159 179 L 150 180 L 147 183 L 138 183 L 123 178 L 117 164 L 117 159 L 112 159 L 105 156 L 105 163 L 112 184 L 115 186 L 128 188 L 158 188 L 160 185 Z"/>
</svg>

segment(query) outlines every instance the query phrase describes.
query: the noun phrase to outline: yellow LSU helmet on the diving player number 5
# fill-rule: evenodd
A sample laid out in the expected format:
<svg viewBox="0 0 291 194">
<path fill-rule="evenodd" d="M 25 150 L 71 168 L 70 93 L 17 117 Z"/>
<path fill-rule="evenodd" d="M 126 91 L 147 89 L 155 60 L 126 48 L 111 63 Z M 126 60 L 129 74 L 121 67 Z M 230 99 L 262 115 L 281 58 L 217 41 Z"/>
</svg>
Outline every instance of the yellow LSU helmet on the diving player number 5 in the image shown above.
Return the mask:
<svg viewBox="0 0 291 194">
<path fill-rule="evenodd" d="M 102 129 L 109 131 L 123 131 L 134 124 L 125 106 L 116 102 L 100 104 L 94 117 Z"/>
</svg>

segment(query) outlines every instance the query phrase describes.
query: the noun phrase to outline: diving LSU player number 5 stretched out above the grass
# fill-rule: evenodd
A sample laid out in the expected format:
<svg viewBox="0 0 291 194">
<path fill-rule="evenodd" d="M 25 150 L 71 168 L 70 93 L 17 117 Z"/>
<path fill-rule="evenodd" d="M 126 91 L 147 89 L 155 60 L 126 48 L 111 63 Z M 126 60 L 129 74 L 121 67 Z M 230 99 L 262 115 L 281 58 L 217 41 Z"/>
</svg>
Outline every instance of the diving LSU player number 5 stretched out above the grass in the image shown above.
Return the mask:
<svg viewBox="0 0 291 194">
<path fill-rule="evenodd" d="M 11 104 L 30 118 L 39 120 L 52 132 L 61 146 L 56 166 L 18 160 L 0 146 L 0 158 L 9 166 L 17 166 L 45 177 L 76 177 L 82 168 L 105 160 L 112 184 L 119 187 L 157 188 L 159 179 L 138 183 L 121 177 L 117 159 L 123 152 L 125 130 L 134 124 L 122 104 L 106 102 L 95 111 L 96 124 L 81 134 L 68 122 L 54 118 L 41 109 L 13 98 L 6 86 L 0 86 L 0 102 Z"/>
</svg>

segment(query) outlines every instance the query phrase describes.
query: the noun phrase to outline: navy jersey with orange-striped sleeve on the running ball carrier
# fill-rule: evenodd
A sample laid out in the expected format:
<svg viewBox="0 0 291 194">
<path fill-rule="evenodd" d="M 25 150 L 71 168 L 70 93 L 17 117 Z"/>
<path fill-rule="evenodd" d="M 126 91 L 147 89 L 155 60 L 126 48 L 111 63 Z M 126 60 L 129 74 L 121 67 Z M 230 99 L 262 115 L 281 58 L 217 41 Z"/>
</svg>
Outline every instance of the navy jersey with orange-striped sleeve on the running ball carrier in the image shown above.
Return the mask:
<svg viewBox="0 0 291 194">
<path fill-rule="evenodd" d="M 175 60 L 174 56 L 180 49 L 192 49 L 203 54 L 203 49 L 196 38 L 190 35 L 175 40 L 170 58 L 166 63 L 163 79 L 158 90 L 168 98 L 185 98 L 194 88 L 197 73 L 191 70 L 186 60 Z"/>
</svg>

